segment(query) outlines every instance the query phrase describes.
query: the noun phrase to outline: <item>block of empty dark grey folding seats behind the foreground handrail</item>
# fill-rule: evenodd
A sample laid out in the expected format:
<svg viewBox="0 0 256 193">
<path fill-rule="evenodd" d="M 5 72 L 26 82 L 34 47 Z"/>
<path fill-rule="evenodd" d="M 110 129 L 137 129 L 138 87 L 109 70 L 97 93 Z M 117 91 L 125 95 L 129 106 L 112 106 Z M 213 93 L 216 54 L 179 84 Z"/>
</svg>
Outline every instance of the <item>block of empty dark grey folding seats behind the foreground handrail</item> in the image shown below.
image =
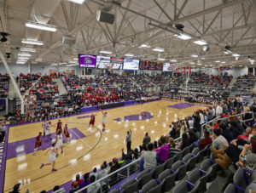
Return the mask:
<svg viewBox="0 0 256 193">
<path fill-rule="evenodd" d="M 110 192 L 133 193 L 140 190 L 142 193 L 161 193 L 172 189 L 172 192 L 189 192 L 189 188 L 186 189 L 189 185 L 195 192 L 204 192 L 207 182 L 216 178 L 217 170 L 214 161 L 204 160 L 206 151 L 207 148 L 194 149 L 194 146 L 190 145 L 153 170 L 143 170 L 136 179 L 128 179 L 119 190 Z M 200 162 L 201 167 L 195 168 L 195 164 Z M 176 181 L 183 179 L 189 171 L 192 171 L 189 173 L 189 179 L 176 185 Z"/>
</svg>

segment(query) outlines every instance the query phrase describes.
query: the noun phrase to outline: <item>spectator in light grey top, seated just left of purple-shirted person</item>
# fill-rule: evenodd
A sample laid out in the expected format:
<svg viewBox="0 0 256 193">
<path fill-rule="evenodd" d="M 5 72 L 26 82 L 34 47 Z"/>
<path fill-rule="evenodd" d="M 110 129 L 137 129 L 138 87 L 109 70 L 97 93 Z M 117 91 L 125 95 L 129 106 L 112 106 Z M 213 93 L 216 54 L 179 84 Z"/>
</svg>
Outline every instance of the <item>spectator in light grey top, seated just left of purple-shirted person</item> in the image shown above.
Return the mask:
<svg viewBox="0 0 256 193">
<path fill-rule="evenodd" d="M 156 167 L 156 153 L 153 151 L 153 144 L 148 144 L 148 150 L 144 151 L 140 158 L 144 161 L 144 169 Z"/>
</svg>

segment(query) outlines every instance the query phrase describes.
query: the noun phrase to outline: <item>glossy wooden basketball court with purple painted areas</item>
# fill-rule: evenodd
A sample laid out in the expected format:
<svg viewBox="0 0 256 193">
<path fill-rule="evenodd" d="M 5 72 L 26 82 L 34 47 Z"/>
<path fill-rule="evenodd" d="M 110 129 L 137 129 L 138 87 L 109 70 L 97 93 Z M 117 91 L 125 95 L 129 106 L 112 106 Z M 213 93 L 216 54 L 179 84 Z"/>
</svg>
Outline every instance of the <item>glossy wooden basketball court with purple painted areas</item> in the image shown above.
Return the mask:
<svg viewBox="0 0 256 193">
<path fill-rule="evenodd" d="M 36 156 L 32 156 L 35 136 L 42 131 L 42 122 L 10 127 L 4 192 L 9 192 L 13 184 L 18 182 L 23 184 L 21 192 L 26 189 L 30 192 L 52 190 L 55 184 L 70 182 L 77 173 L 90 172 L 93 167 L 100 167 L 102 162 L 110 162 L 117 155 L 120 157 L 121 148 L 125 147 L 126 131 L 130 128 L 131 147 L 134 149 L 142 144 L 144 133 L 148 132 L 151 140 L 155 140 L 168 133 L 169 124 L 177 118 L 183 119 L 198 109 L 206 108 L 206 105 L 170 99 L 113 108 L 107 110 L 107 127 L 103 133 L 101 111 L 96 115 L 95 129 L 88 129 L 90 112 L 61 118 L 63 124 L 68 123 L 72 137 L 71 143 L 65 144 L 64 153 L 60 152 L 56 159 L 55 167 L 58 171 L 55 173 L 50 171 L 51 167 L 39 168 L 43 162 L 48 162 L 48 156 L 44 155 L 46 150 L 39 150 Z M 58 119 L 51 120 L 52 133 L 55 133 L 57 121 Z M 43 149 L 49 146 L 50 142 L 45 142 L 43 138 Z"/>
</svg>

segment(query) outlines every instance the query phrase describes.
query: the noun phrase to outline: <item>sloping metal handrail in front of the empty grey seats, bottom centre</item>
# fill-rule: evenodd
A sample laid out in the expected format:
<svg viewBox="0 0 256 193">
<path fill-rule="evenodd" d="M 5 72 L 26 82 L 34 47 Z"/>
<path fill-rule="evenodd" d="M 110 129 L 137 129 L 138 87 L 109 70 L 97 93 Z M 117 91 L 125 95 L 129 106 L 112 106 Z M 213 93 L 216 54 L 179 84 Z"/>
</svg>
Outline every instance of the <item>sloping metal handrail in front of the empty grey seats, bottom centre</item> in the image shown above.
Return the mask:
<svg viewBox="0 0 256 193">
<path fill-rule="evenodd" d="M 181 137 L 179 137 L 177 139 L 174 139 L 174 142 L 177 142 L 179 140 L 181 140 Z M 91 185 L 96 184 L 96 183 L 100 183 L 101 184 L 101 193 L 102 193 L 102 181 L 106 181 L 108 178 L 111 178 L 114 174 L 119 173 L 120 171 L 124 170 L 125 168 L 127 168 L 127 178 L 130 179 L 130 167 L 131 167 L 131 165 L 134 165 L 134 164 L 136 164 L 139 161 L 140 161 L 140 158 L 138 158 L 137 160 L 135 160 L 135 161 L 133 161 L 131 163 L 128 163 L 127 165 L 125 165 L 124 167 L 119 168 L 118 170 L 114 171 L 113 173 L 109 173 L 107 176 L 103 177 L 102 179 L 98 179 L 94 183 L 86 185 L 84 188 L 79 189 L 79 190 L 75 191 L 74 193 L 79 193 L 79 192 L 81 192 L 81 191 L 83 191 L 85 189 L 88 189 Z"/>
</svg>

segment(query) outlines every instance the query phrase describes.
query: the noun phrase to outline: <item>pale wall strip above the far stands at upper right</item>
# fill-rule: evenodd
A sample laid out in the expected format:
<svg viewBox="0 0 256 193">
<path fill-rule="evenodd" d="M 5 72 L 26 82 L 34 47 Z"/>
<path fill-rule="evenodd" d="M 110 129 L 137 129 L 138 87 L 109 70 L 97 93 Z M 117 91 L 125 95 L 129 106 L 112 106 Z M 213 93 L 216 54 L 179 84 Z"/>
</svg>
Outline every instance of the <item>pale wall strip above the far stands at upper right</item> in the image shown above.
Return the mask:
<svg viewBox="0 0 256 193">
<path fill-rule="evenodd" d="M 247 75 L 248 74 L 248 67 L 236 67 L 233 71 L 217 71 L 217 69 L 206 69 L 206 74 L 218 76 L 220 74 L 224 74 L 225 72 L 228 73 L 229 76 L 233 76 L 234 78 L 240 77 L 241 75 Z"/>
</svg>

